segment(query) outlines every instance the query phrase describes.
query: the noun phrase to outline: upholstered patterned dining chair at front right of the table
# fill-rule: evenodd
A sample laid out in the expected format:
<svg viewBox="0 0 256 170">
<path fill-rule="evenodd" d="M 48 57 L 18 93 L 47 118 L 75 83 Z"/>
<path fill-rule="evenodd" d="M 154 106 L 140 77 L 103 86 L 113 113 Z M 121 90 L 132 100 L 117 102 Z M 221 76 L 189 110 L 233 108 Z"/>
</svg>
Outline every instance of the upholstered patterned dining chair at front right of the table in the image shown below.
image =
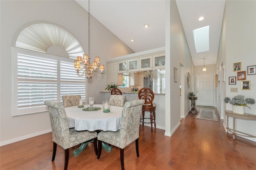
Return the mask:
<svg viewBox="0 0 256 170">
<path fill-rule="evenodd" d="M 98 156 L 100 158 L 102 141 L 120 148 L 121 168 L 124 170 L 124 148 L 134 142 L 137 157 L 139 154 L 140 116 L 144 100 L 127 101 L 122 111 L 120 129 L 116 132 L 101 131 L 98 133 Z"/>
</svg>

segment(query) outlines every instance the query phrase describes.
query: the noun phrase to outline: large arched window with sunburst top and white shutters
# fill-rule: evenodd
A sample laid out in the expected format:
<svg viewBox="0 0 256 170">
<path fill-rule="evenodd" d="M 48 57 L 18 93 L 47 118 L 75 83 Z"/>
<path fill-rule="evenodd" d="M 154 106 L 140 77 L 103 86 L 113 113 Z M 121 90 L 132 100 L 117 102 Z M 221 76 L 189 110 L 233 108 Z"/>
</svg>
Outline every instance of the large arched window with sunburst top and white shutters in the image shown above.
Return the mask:
<svg viewBox="0 0 256 170">
<path fill-rule="evenodd" d="M 86 79 L 74 69 L 74 59 L 83 53 L 74 36 L 53 24 L 22 30 L 12 47 L 12 115 L 45 112 L 44 101 L 61 101 L 62 95 L 85 98 Z"/>
</svg>

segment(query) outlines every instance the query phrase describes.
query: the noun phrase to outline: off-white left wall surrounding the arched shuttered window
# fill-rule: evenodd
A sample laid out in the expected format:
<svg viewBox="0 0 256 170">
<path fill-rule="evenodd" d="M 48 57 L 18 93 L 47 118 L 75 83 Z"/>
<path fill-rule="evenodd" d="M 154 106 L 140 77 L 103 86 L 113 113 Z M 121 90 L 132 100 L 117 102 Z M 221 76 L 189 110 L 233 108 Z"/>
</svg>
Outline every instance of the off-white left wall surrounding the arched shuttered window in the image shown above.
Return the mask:
<svg viewBox="0 0 256 170">
<path fill-rule="evenodd" d="M 11 89 L 11 46 L 15 45 L 19 32 L 32 23 L 56 24 L 70 32 L 87 52 L 88 12 L 71 0 L 1 0 L 0 12 L 0 142 L 3 145 L 51 131 L 48 113 L 11 116 L 11 94 L 14 90 Z M 90 55 L 92 58 L 96 55 L 100 56 L 102 64 L 106 65 L 109 58 L 133 52 L 95 18 L 90 17 Z M 99 100 L 100 93 L 95 94 L 95 92 L 105 89 L 106 70 L 102 78 L 93 78 L 87 84 L 87 97 L 94 96 L 96 101 Z"/>
</svg>

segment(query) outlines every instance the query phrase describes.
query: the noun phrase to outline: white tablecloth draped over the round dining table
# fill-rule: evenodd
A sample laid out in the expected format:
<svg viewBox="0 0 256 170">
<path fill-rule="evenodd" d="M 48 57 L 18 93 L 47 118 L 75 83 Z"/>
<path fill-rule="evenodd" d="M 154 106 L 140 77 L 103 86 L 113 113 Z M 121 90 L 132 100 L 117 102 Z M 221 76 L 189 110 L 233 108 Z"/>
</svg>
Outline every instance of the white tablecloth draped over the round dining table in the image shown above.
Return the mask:
<svg viewBox="0 0 256 170">
<path fill-rule="evenodd" d="M 83 108 L 77 106 L 66 107 L 66 115 L 68 118 L 68 125 L 75 130 L 104 130 L 117 131 L 120 129 L 120 122 L 123 107 L 111 106 L 109 113 L 104 113 L 102 105 L 94 105 L 100 107 L 98 111 L 83 111 L 89 107 L 84 105 Z"/>
</svg>

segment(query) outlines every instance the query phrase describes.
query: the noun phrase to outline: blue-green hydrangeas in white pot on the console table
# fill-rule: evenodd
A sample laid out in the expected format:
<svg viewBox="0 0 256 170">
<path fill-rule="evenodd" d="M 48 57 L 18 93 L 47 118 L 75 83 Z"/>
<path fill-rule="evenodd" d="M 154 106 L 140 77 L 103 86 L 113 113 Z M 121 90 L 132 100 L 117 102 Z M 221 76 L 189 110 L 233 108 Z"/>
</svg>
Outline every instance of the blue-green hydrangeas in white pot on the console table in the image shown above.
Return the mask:
<svg viewBox="0 0 256 170">
<path fill-rule="evenodd" d="M 253 105 L 255 104 L 255 100 L 252 98 L 244 99 L 243 95 L 237 95 L 230 99 L 229 97 L 225 97 L 225 103 L 230 103 L 232 105 L 233 113 L 244 114 L 244 107 L 248 107 L 247 104 Z M 251 109 L 250 107 L 248 107 Z"/>
</svg>

